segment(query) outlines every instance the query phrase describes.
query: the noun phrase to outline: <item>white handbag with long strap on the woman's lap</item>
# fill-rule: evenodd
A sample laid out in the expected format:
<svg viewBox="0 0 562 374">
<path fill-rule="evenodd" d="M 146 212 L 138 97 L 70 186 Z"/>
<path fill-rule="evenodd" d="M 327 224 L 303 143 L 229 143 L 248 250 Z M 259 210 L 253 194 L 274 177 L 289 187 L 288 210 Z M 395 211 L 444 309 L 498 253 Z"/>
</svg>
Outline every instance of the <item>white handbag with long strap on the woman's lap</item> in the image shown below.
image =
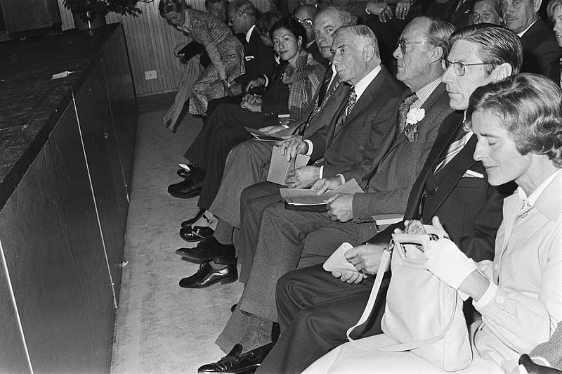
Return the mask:
<svg viewBox="0 0 562 374">
<path fill-rule="evenodd" d="M 424 227 L 427 232 L 440 236 L 433 226 Z M 358 323 L 348 329 L 347 337 L 355 342 L 351 332 L 369 318 L 384 270 L 392 257 L 392 276 L 381 328 L 399 344 L 374 347 L 355 343 L 384 352 L 410 351 L 445 371 L 462 370 L 472 361 L 462 298 L 457 290 L 424 268 L 426 258 L 416 245 L 427 247 L 429 240 L 427 234 L 393 234 L 394 244 L 384 251 L 367 306 Z"/>
</svg>

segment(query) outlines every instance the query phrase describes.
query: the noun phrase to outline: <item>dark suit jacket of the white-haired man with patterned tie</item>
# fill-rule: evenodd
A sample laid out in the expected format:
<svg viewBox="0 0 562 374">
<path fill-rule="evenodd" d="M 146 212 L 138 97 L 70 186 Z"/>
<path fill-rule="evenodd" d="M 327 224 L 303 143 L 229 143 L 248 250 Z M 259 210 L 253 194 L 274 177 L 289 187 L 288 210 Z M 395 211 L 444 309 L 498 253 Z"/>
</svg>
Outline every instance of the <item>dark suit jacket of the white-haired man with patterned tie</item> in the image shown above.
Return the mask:
<svg viewBox="0 0 562 374">
<path fill-rule="evenodd" d="M 343 124 L 336 121 L 347 105 L 341 102 L 329 124 L 308 137 L 313 143 L 311 160 L 324 157 L 323 177 L 343 174 L 346 180 L 364 175 L 379 152 L 384 134 L 396 122 L 394 108 L 400 101 L 405 86 L 381 65 L 377 74 Z"/>
</svg>

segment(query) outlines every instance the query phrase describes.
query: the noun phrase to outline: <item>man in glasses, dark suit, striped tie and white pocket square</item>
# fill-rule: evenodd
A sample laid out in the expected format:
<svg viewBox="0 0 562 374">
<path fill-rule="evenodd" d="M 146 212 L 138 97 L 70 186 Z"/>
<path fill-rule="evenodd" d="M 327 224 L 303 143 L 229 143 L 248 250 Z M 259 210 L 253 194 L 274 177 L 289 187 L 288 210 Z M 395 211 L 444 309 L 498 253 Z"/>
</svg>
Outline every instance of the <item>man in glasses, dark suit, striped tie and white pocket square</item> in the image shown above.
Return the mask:
<svg viewBox="0 0 562 374">
<path fill-rule="evenodd" d="M 502 27 L 473 25 L 452 35 L 452 49 L 445 59 L 449 103 L 466 110 L 478 86 L 517 74 L 523 48 L 513 32 Z M 438 216 L 447 221 L 451 239 L 475 261 L 492 259 L 497 228 L 502 221 L 503 198 L 515 186 L 490 186 L 482 162 L 473 160 L 476 138 L 456 123 L 442 126 L 424 168 L 414 183 L 405 219 L 431 223 Z M 358 321 L 373 284 L 359 272 L 372 275 L 393 229 L 346 253 L 358 272 L 328 273 L 321 265 L 287 273 L 277 283 L 277 312 L 281 337 L 263 361 L 264 373 L 300 373 L 332 348 L 346 341 L 346 330 Z M 386 281 L 386 286 L 388 280 Z M 382 290 L 383 288 L 381 288 Z M 380 292 L 367 327 L 353 334 L 381 333 L 384 294 Z"/>
</svg>

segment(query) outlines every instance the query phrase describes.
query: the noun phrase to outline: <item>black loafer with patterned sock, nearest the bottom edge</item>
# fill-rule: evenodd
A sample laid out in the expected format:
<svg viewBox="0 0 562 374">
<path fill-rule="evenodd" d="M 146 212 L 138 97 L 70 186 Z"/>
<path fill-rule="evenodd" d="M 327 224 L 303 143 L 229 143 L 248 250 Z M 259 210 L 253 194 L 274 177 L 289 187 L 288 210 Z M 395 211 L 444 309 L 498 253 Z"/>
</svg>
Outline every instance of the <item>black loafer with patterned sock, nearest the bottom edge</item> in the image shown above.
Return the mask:
<svg viewBox="0 0 562 374">
<path fill-rule="evenodd" d="M 242 346 L 240 344 L 235 344 L 230 353 L 224 356 L 220 361 L 201 366 L 197 369 L 197 373 L 247 373 L 250 370 L 256 370 L 272 348 L 273 343 L 269 343 L 244 354 L 240 354 L 240 352 L 242 352 Z"/>
</svg>

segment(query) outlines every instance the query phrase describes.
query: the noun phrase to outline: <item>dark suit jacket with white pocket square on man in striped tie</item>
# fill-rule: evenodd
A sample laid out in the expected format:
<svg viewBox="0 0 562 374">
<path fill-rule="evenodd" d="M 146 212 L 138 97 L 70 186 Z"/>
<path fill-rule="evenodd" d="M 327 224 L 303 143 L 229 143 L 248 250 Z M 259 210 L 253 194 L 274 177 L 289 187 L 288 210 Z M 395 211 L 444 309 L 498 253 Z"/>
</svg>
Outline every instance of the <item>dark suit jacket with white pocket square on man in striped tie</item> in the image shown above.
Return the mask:
<svg viewBox="0 0 562 374">
<path fill-rule="evenodd" d="M 440 172 L 433 174 L 462 127 L 462 120 L 463 113 L 457 111 L 441 125 L 424 168 L 412 187 L 404 217 L 431 224 L 431 219 L 438 216 L 459 248 L 475 261 L 481 261 L 494 257 L 503 200 L 513 193 L 516 185 L 490 186 L 482 162 L 473 159 L 476 136 L 472 136 Z M 479 173 L 483 178 L 467 177 L 467 170 Z M 388 226 L 368 242 L 388 243 L 397 227 L 403 228 L 403 222 Z"/>
</svg>

